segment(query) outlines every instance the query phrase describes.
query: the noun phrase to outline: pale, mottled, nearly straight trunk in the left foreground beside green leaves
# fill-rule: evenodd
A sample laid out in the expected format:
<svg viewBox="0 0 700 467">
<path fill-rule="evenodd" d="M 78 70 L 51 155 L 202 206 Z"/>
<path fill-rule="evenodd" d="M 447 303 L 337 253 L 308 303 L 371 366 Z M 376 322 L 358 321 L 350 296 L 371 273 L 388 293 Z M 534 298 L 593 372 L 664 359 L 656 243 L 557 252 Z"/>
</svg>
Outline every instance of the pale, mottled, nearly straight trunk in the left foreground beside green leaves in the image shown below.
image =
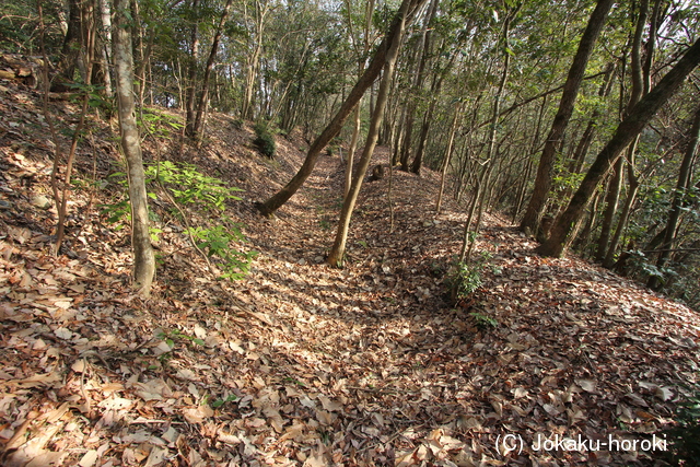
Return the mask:
<svg viewBox="0 0 700 467">
<path fill-rule="evenodd" d="M 129 200 L 131 202 L 131 244 L 133 247 L 133 288 L 149 296 L 155 257 L 149 233 L 149 208 L 145 192 L 145 176 L 141 157 L 139 129 L 136 122 L 133 102 L 133 56 L 128 24 L 128 0 L 114 0 L 115 28 L 113 37 L 117 103 L 121 149 L 127 161 L 129 176 Z"/>
</svg>

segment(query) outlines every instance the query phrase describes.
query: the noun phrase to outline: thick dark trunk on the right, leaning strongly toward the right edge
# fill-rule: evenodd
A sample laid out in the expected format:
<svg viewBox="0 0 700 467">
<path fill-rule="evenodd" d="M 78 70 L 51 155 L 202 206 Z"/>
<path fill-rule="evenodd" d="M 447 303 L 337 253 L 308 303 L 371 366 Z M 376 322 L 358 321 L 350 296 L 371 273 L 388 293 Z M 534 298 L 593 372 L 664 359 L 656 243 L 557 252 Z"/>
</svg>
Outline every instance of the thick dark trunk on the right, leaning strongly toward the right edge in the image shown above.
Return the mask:
<svg viewBox="0 0 700 467">
<path fill-rule="evenodd" d="M 598 153 L 593 165 L 586 173 L 579 189 L 573 195 L 567 210 L 557 219 L 550 237 L 537 252 L 544 256 L 560 257 L 563 255 L 569 234 L 574 223 L 591 200 L 593 192 L 600 179 L 607 174 L 609 167 L 617 161 L 625 148 L 637 138 L 642 129 L 654 117 L 656 112 L 678 91 L 684 81 L 700 62 L 700 39 L 686 50 L 678 62 L 666 73 L 658 84 L 630 110 L 629 115 L 620 122 L 612 138 Z"/>
</svg>

